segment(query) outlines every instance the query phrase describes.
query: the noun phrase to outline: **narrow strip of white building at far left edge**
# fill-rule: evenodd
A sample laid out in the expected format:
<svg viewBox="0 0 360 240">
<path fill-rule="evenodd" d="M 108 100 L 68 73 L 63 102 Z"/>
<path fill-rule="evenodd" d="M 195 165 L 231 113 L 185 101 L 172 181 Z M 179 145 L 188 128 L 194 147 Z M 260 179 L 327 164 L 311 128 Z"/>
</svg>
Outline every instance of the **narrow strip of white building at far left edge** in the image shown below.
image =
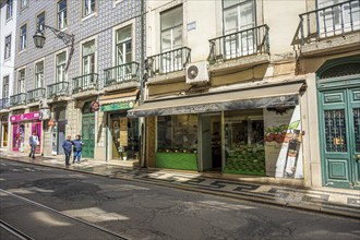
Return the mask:
<svg viewBox="0 0 360 240">
<path fill-rule="evenodd" d="M 16 9 L 19 2 L 0 1 L 0 147 L 10 149 L 9 97 L 14 82 Z"/>
</svg>

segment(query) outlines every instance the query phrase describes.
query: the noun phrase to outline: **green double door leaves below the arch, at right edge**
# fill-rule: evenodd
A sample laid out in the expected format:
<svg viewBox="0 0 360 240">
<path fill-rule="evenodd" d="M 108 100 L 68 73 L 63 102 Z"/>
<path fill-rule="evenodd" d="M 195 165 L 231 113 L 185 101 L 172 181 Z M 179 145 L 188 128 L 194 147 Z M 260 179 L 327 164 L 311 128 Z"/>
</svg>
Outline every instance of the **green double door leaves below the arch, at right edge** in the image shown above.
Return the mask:
<svg viewBox="0 0 360 240">
<path fill-rule="evenodd" d="M 360 88 L 319 93 L 323 182 L 360 189 Z"/>
</svg>

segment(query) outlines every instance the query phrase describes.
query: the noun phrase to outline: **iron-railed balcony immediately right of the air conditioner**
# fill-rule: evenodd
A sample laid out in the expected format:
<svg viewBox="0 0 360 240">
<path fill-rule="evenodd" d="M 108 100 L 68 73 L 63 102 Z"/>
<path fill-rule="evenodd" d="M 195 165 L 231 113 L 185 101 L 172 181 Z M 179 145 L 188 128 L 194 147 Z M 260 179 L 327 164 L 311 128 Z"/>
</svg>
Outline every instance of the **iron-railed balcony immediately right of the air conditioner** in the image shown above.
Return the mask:
<svg viewBox="0 0 360 240">
<path fill-rule="evenodd" d="M 268 26 L 266 24 L 209 39 L 209 70 L 240 70 L 269 61 Z"/>
</svg>

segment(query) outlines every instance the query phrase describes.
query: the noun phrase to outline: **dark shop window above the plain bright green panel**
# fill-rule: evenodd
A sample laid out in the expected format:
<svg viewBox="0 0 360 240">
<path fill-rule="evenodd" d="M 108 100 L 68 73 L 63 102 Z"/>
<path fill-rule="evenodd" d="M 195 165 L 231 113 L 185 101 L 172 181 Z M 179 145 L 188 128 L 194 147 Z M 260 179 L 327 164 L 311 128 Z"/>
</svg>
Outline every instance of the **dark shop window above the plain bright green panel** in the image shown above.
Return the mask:
<svg viewBox="0 0 360 240">
<path fill-rule="evenodd" d="M 157 117 L 157 151 L 194 153 L 197 149 L 197 116 Z"/>
</svg>

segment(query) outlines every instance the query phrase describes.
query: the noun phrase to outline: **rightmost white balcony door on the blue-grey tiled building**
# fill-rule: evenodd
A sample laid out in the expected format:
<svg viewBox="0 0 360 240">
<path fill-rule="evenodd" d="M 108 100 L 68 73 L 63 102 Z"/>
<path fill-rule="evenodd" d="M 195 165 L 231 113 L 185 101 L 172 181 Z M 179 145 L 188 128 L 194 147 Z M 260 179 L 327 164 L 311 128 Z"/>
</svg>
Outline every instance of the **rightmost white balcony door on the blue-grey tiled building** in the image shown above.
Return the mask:
<svg viewBox="0 0 360 240">
<path fill-rule="evenodd" d="M 131 79 L 131 63 L 132 62 L 132 37 L 131 26 L 117 31 L 116 34 L 116 65 L 115 79 L 117 82 Z M 121 67 L 120 67 L 121 65 Z"/>
</svg>

